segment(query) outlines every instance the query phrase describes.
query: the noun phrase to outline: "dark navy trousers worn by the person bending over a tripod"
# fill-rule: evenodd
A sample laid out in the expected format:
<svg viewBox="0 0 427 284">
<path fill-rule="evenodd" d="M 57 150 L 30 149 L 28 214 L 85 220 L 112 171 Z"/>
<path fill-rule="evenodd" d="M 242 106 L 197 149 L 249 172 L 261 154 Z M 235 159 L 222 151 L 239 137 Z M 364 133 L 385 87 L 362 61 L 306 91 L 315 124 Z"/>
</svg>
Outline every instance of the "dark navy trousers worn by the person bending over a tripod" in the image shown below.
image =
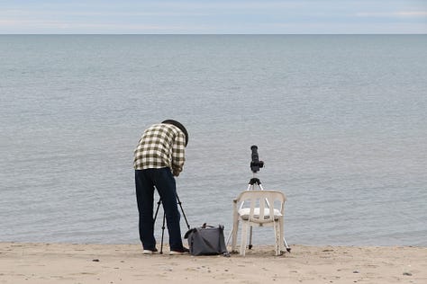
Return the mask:
<svg viewBox="0 0 427 284">
<path fill-rule="evenodd" d="M 183 247 L 179 211 L 177 208 L 177 185 L 170 168 L 135 170 L 135 187 L 138 211 L 140 213 L 140 239 L 144 250 L 156 247 L 154 237 L 154 188 L 159 192 L 166 215 L 170 250 Z"/>
</svg>

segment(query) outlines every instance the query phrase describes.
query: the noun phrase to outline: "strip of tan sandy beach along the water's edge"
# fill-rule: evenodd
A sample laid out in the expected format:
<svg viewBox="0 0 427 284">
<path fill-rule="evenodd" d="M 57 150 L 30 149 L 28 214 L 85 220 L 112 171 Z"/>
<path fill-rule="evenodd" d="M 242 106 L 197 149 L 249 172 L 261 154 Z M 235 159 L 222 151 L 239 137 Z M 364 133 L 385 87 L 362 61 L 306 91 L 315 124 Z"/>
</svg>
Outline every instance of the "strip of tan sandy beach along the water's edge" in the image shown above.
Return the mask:
<svg viewBox="0 0 427 284">
<path fill-rule="evenodd" d="M 274 256 L 143 255 L 138 244 L 0 243 L 0 283 L 427 283 L 425 247 L 292 245 Z"/>
</svg>

